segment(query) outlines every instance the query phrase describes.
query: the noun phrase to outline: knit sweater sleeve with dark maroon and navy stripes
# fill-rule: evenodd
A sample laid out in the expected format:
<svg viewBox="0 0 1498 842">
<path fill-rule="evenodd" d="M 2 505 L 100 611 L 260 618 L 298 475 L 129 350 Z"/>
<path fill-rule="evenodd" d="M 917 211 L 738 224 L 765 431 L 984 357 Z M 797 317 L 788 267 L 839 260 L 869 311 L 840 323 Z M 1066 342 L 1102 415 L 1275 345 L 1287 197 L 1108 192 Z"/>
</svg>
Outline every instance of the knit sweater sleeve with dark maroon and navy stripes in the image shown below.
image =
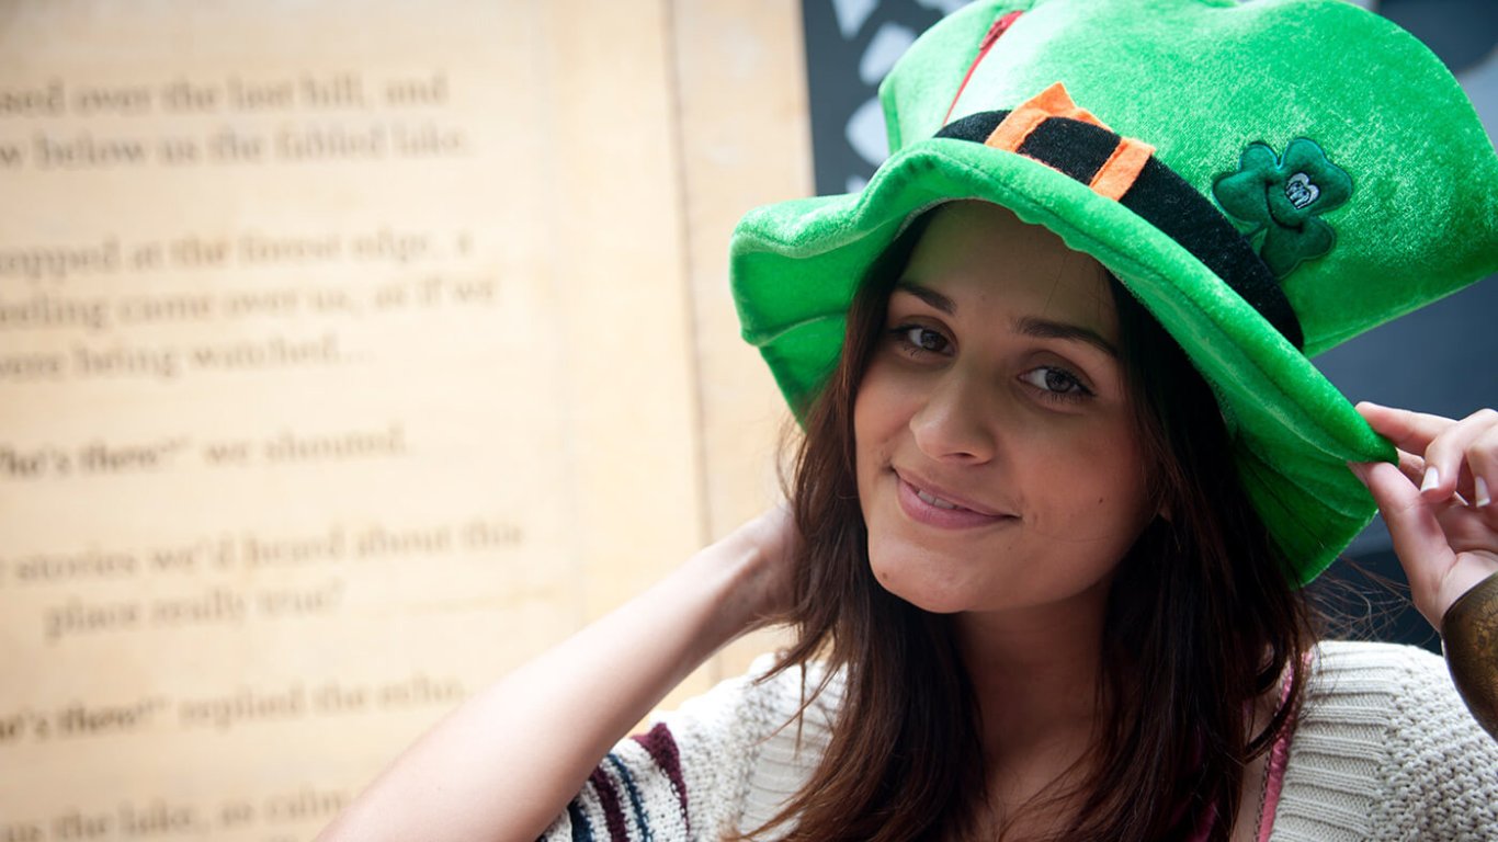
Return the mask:
<svg viewBox="0 0 1498 842">
<path fill-rule="evenodd" d="M 774 815 L 819 758 L 840 694 L 818 698 L 798 727 L 801 673 L 756 680 L 771 665 L 755 661 L 614 746 L 542 839 L 718 841 Z"/>
</svg>

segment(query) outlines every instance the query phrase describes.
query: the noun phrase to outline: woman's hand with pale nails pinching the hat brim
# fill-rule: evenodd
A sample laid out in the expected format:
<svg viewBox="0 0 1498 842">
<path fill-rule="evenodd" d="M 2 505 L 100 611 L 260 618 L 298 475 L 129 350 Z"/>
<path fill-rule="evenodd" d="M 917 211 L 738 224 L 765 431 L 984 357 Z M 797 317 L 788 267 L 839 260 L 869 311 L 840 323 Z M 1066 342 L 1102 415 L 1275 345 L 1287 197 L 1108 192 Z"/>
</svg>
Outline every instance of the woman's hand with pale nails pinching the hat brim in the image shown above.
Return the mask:
<svg viewBox="0 0 1498 842">
<path fill-rule="evenodd" d="M 1384 515 L 1416 608 L 1437 629 L 1458 596 L 1498 572 L 1498 412 L 1461 421 L 1359 403 L 1399 466 L 1351 464 Z"/>
</svg>

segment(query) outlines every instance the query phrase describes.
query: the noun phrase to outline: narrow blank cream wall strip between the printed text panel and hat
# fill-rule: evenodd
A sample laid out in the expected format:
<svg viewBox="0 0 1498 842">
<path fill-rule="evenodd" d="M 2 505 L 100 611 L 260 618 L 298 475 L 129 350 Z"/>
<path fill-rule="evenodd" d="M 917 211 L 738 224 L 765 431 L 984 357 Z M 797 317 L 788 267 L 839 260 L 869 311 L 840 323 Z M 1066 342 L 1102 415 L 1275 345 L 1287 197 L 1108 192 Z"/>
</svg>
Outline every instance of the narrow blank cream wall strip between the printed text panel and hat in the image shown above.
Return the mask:
<svg viewBox="0 0 1498 842">
<path fill-rule="evenodd" d="M 745 210 L 812 192 L 801 7 L 792 0 L 676 0 L 688 274 L 707 532 L 719 538 L 780 497 L 777 445 L 789 412 L 739 334 L 728 241 Z M 783 644 L 762 632 L 731 644 L 715 677 L 737 676 Z"/>
</svg>

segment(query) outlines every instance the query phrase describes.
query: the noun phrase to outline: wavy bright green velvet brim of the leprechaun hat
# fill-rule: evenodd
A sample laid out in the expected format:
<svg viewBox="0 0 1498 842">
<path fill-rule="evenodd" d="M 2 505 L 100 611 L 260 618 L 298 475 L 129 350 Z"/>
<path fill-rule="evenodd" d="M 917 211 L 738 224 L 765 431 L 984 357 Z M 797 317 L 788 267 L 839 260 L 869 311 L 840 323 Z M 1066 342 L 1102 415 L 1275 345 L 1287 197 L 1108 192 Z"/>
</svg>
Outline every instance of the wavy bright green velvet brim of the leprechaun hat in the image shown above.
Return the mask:
<svg viewBox="0 0 1498 842">
<path fill-rule="evenodd" d="M 731 270 L 743 336 L 800 415 L 837 364 L 869 264 L 938 204 L 983 199 L 1092 255 L 1165 327 L 1212 385 L 1239 476 L 1306 583 L 1372 520 L 1348 461 L 1390 461 L 1336 387 L 1182 246 L 1121 205 L 1020 154 L 936 138 L 894 156 L 858 193 L 750 211 Z"/>
</svg>

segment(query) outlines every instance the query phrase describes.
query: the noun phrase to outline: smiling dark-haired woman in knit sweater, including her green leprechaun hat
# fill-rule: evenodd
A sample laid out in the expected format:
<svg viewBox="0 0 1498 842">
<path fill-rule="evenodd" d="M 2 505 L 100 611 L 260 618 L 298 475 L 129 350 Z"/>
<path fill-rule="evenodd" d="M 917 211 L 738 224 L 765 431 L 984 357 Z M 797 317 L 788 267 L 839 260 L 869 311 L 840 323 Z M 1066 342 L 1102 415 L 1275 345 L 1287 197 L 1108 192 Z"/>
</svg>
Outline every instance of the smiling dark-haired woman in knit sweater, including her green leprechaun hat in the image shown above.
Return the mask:
<svg viewBox="0 0 1498 842">
<path fill-rule="evenodd" d="M 1440 661 L 1314 646 L 1297 590 L 1366 482 L 1449 643 L 1498 601 L 1498 415 L 1354 411 L 1305 360 L 1498 268 L 1455 81 L 1341 3 L 1047 0 L 953 15 L 881 94 L 861 193 L 736 235 L 794 514 L 470 700 L 325 838 L 1498 833 Z M 776 620 L 767 676 L 619 742 Z"/>
</svg>

